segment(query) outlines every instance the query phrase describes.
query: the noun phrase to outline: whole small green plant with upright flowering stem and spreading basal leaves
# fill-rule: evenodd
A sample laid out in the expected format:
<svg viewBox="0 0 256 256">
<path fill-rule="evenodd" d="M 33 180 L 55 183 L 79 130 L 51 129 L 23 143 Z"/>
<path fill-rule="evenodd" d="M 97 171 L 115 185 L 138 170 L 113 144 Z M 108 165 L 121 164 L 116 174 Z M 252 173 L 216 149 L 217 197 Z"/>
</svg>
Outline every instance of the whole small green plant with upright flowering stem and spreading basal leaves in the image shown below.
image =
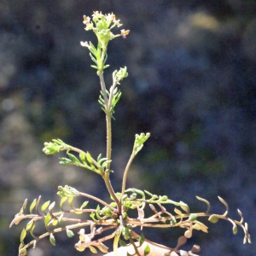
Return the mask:
<svg viewBox="0 0 256 256">
<path fill-rule="evenodd" d="M 131 162 L 137 153 L 142 150 L 143 144 L 148 140 L 150 134 L 141 133 L 135 136 L 134 146 L 131 152 L 131 158 L 128 160 L 127 166 L 125 167 L 122 189 L 121 192 L 116 192 L 111 184 L 110 174 L 113 172 L 110 168 L 111 166 L 111 150 L 112 150 L 112 127 L 111 120 L 113 118 L 114 108 L 119 102 L 121 91 L 118 87 L 120 82 L 128 76 L 127 68 L 120 68 L 119 71 L 113 72 L 113 84 L 107 90 L 105 85 L 103 70 L 108 67 L 106 61 L 108 59 L 107 49 L 108 43 L 113 38 L 121 36 L 125 38 L 128 34 L 128 30 L 121 30 L 119 34 L 114 35 L 112 32 L 113 27 L 121 26 L 119 20 L 115 19 L 115 15 L 108 14 L 102 15 L 101 12 L 94 12 L 92 15 L 92 21 L 90 17 L 84 16 L 84 25 L 86 31 L 92 30 L 96 34 L 98 40 L 97 46 L 91 42 L 81 43 L 90 51 L 91 60 L 95 63 L 92 67 L 97 69 L 97 74 L 101 83 L 101 93 L 99 96 L 99 103 L 102 107 L 103 112 L 106 114 L 107 120 L 107 154 L 102 157 L 100 154 L 97 159 L 94 159 L 91 154 L 87 151 L 86 153 L 79 149 L 70 146 L 60 139 L 54 139 L 50 143 L 44 143 L 44 153 L 45 154 L 56 154 L 61 151 L 66 151 L 67 157 L 61 157 L 61 166 L 74 165 L 82 167 L 86 170 L 96 172 L 102 176 L 104 183 L 108 189 L 110 195 L 110 202 L 102 201 L 96 196 L 85 194 L 78 191 L 68 185 L 64 187 L 59 186 L 57 195 L 60 195 L 60 212 L 54 212 L 55 201 L 46 201 L 43 203 L 41 208 L 39 196 L 38 199 L 32 201 L 29 207 L 29 214 L 26 214 L 26 203 L 24 201 L 23 206 L 15 215 L 14 220 L 10 224 L 19 224 L 20 220 L 29 218 L 30 221 L 26 224 L 26 228 L 21 231 L 20 234 L 20 247 L 19 255 L 26 255 L 27 247 L 36 247 L 37 241 L 49 236 L 49 241 L 55 246 L 55 233 L 66 231 L 67 237 L 73 237 L 73 229 L 79 230 L 79 241 L 75 244 L 75 248 L 79 252 L 83 252 L 85 248 L 89 248 L 92 253 L 97 253 L 97 249 L 102 253 L 108 252 L 108 247 L 103 244 L 103 241 L 113 239 L 113 250 L 115 255 L 118 255 L 118 247 L 126 247 L 129 244 L 134 248 L 135 253 L 133 255 L 140 255 L 141 249 L 147 241 L 147 245 L 143 248 L 142 255 L 148 255 L 150 253 L 150 244 L 154 244 L 153 241 L 148 241 L 143 234 L 139 235 L 135 232 L 136 227 L 148 227 L 148 228 L 173 228 L 178 227 L 184 230 L 184 235 L 177 239 L 176 247 L 165 247 L 169 254 L 171 255 L 197 255 L 195 253 L 200 252 L 200 247 L 194 246 L 188 252 L 180 249 L 187 239 L 193 236 L 194 230 L 201 230 L 207 233 L 208 227 L 199 221 L 199 218 L 208 218 L 210 223 L 217 223 L 219 219 L 224 219 L 232 224 L 233 233 L 236 235 L 237 227 L 240 226 L 244 231 L 244 243 L 251 242 L 250 235 L 247 230 L 247 223 L 243 224 L 242 213 L 238 210 L 238 214 L 241 220 L 235 220 L 228 217 L 229 206 L 220 197 L 218 200 L 224 205 L 225 212 L 223 214 L 211 213 L 210 203 L 197 196 L 199 201 L 207 204 L 207 212 L 190 212 L 189 206 L 183 201 L 172 201 L 167 195 L 154 195 L 147 190 L 141 190 L 136 188 L 125 189 L 126 177 L 128 175 Z M 73 152 L 74 154 L 72 154 Z M 77 154 L 77 155 L 75 155 Z M 96 208 L 87 208 L 90 201 L 84 201 L 80 207 L 73 206 L 73 199 L 76 196 L 84 196 L 90 201 L 96 201 Z M 68 204 L 70 210 L 64 210 L 64 204 Z M 174 206 L 173 209 L 166 210 L 167 206 Z M 145 217 L 144 208 L 149 207 L 152 211 L 151 215 Z M 39 208 L 41 211 L 39 211 Z M 130 212 L 137 211 L 138 218 L 131 218 Z M 89 218 L 70 218 L 69 214 L 84 214 L 89 213 Z M 88 216 L 88 215 L 86 215 Z M 84 217 L 84 215 L 83 215 Z M 38 221 L 44 222 L 45 233 L 41 236 L 35 236 L 33 230 L 38 224 Z M 69 224 L 67 224 L 69 223 Z M 70 224 L 72 223 L 72 224 Z M 96 228 L 97 226 L 100 226 Z M 84 227 L 88 227 L 90 232 L 85 233 Z M 30 231 L 30 235 L 33 240 L 25 244 L 24 240 L 27 235 L 27 231 Z M 104 233 L 107 230 L 113 230 L 109 235 Z M 101 235 L 100 238 L 96 236 Z M 105 235 L 105 236 L 104 236 Z M 124 240 L 123 240 L 124 239 Z M 154 244 L 155 245 L 155 244 Z M 165 253 L 166 254 L 166 253 Z M 169 255 L 168 254 L 168 255 Z M 127 253 L 127 255 L 132 255 Z"/>
</svg>

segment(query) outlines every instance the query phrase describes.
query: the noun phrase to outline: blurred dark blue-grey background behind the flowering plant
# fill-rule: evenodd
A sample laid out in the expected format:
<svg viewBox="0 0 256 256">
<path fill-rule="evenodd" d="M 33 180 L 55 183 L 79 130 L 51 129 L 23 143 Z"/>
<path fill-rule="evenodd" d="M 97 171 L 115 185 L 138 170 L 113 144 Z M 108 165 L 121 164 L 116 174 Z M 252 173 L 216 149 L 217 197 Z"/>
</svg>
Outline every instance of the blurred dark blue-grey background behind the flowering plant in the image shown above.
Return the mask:
<svg viewBox="0 0 256 256">
<path fill-rule="evenodd" d="M 57 187 L 68 184 L 109 200 L 101 177 L 63 168 L 60 155 L 42 152 L 45 141 L 61 138 L 95 157 L 105 154 L 100 85 L 79 43 L 96 42 L 82 23 L 94 10 L 113 12 L 131 30 L 125 40 L 110 42 L 105 72 L 107 84 L 114 69 L 126 66 L 129 73 L 113 122 L 114 188 L 120 190 L 135 133 L 150 132 L 127 186 L 185 201 L 199 212 L 206 205 L 195 195 L 223 213 L 219 195 L 230 217 L 239 220 L 236 209 L 243 212 L 255 238 L 255 1 L 2 0 L 0 255 L 17 255 L 26 221 L 12 229 L 9 224 L 26 198 L 42 195 L 58 205 Z M 255 243 L 243 245 L 242 230 L 234 236 L 229 223 L 207 224 L 209 234 L 195 232 L 189 247 L 199 244 L 201 255 L 254 255 Z M 143 233 L 170 247 L 182 234 Z M 73 248 L 78 239 L 60 234 L 55 247 L 44 239 L 28 255 L 90 255 Z"/>
</svg>

